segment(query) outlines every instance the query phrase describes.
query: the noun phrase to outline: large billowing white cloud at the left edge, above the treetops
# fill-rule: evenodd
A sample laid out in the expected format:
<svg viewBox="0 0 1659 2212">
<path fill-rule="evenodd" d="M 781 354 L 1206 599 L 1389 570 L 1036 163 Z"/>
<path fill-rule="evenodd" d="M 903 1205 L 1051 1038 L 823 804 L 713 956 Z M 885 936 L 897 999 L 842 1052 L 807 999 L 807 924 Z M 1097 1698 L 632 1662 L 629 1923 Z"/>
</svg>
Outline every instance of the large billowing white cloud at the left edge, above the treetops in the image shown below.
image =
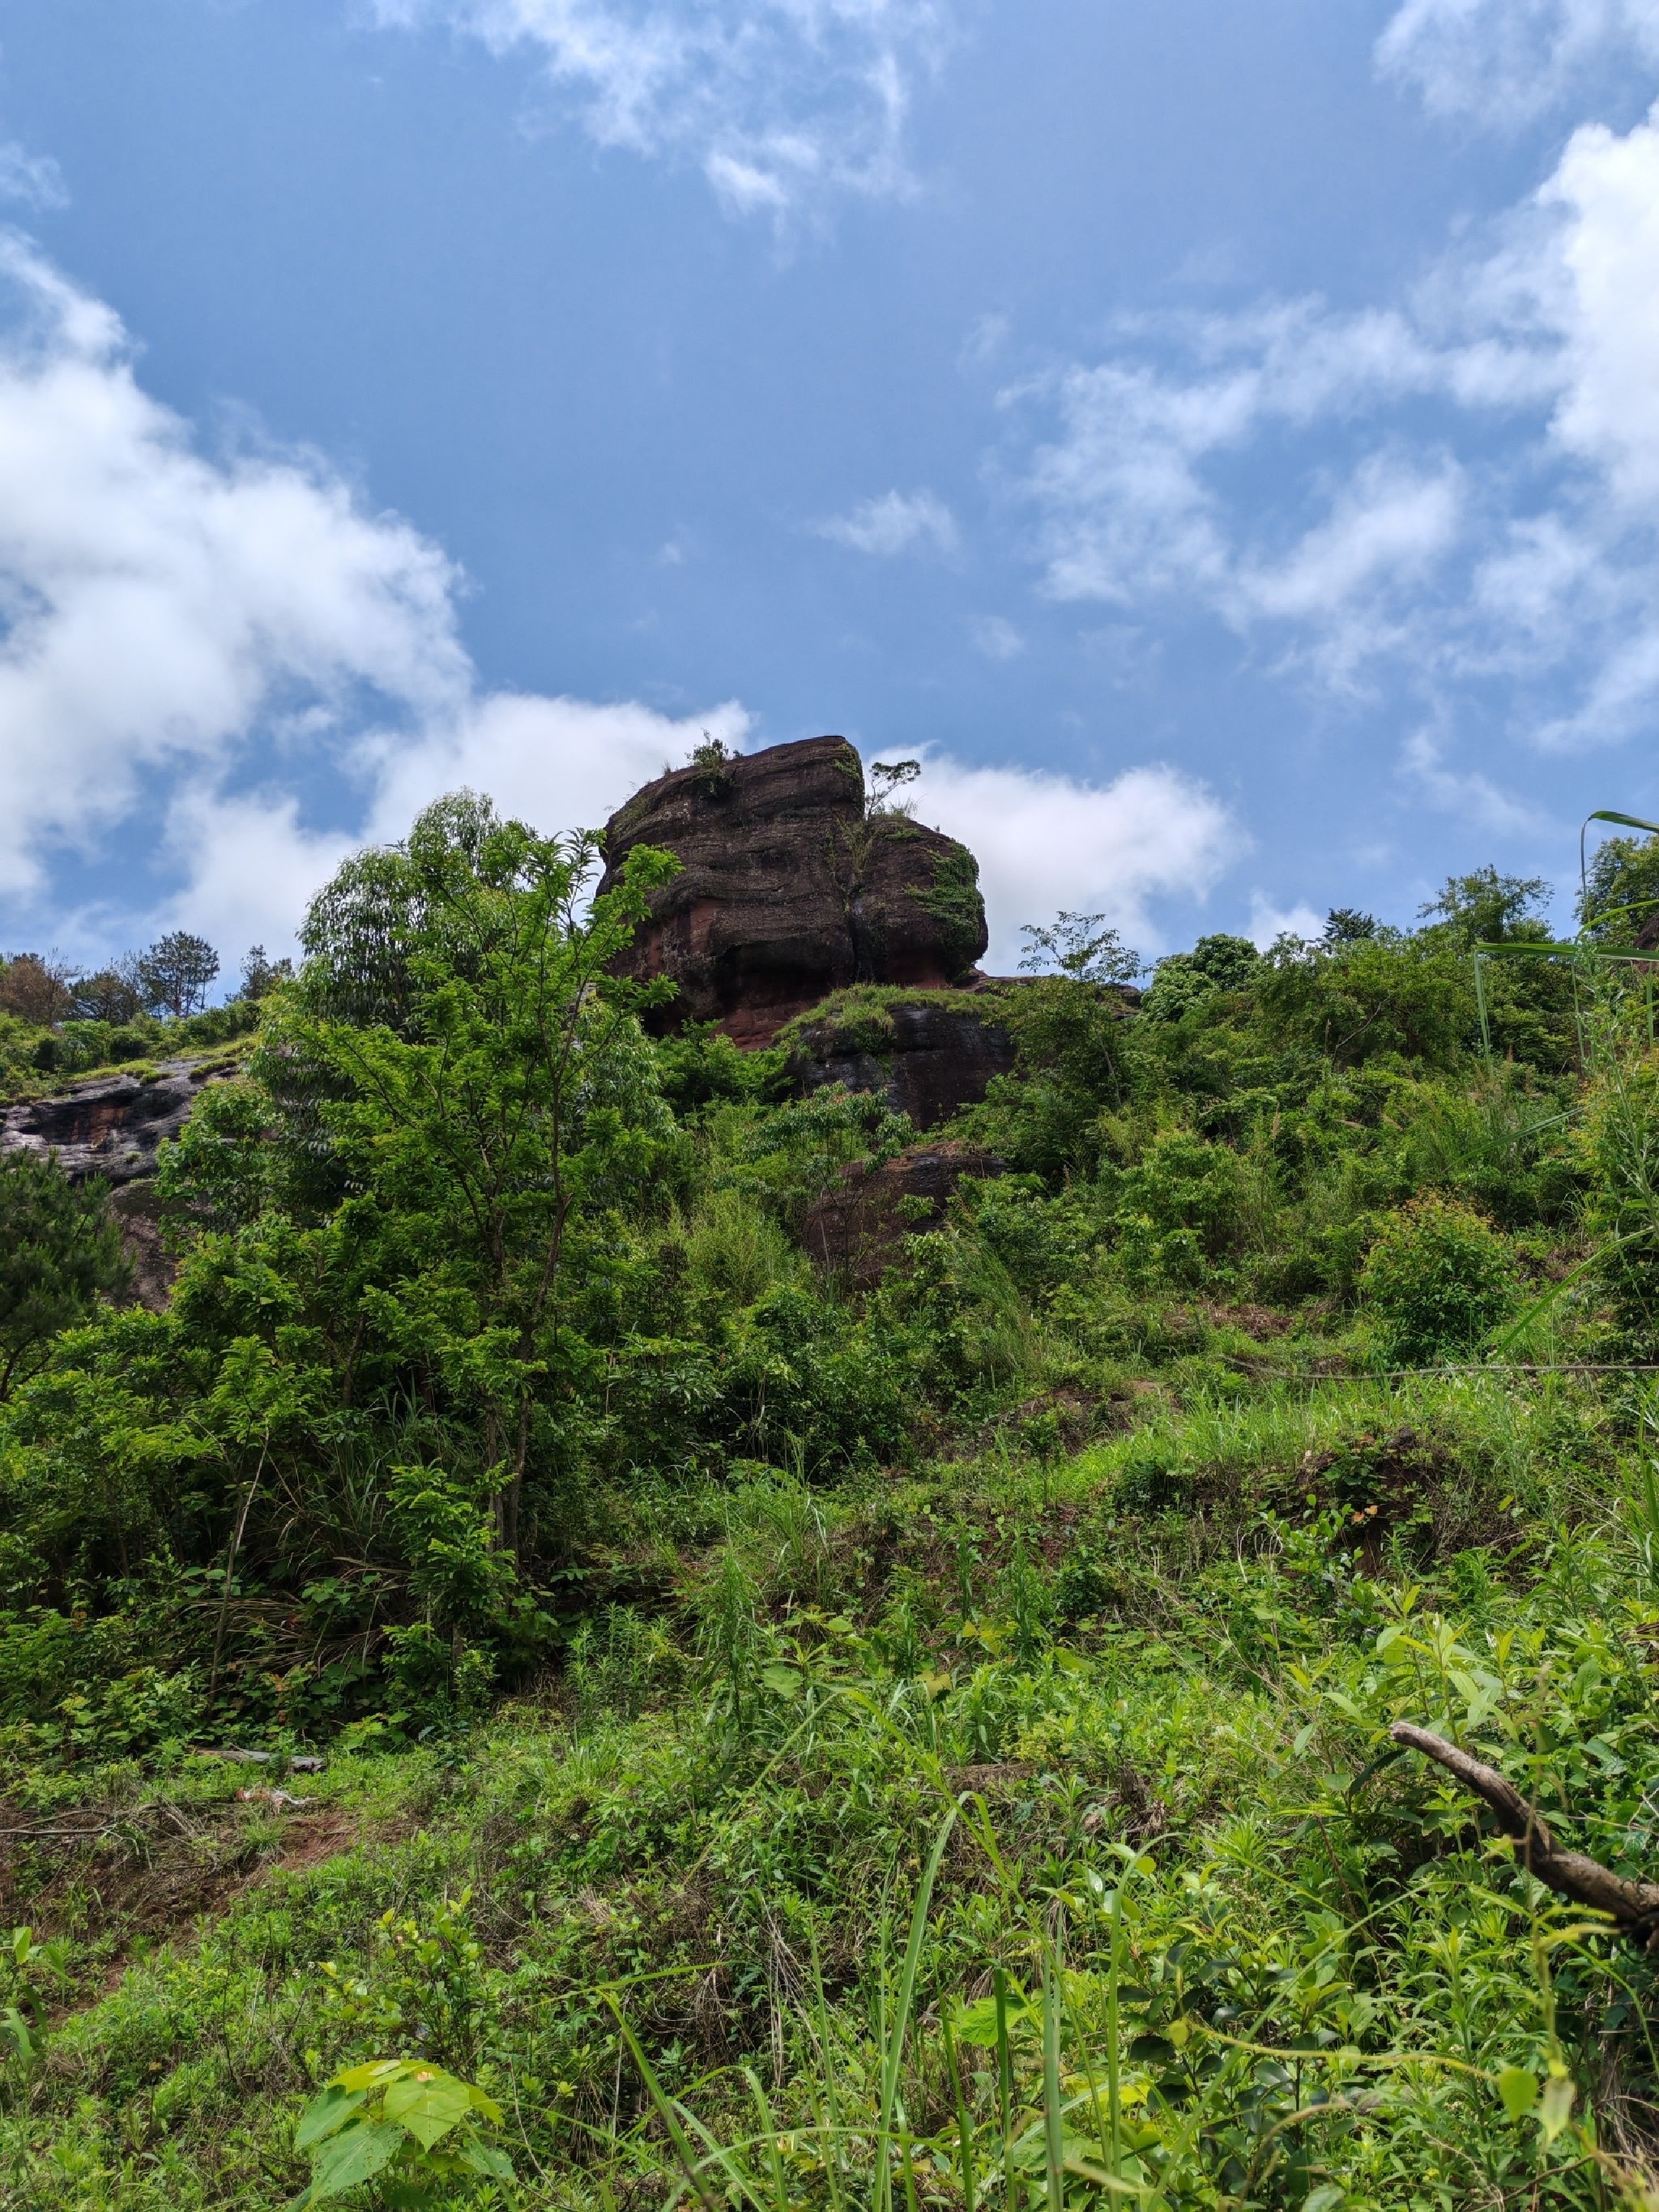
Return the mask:
<svg viewBox="0 0 1659 2212">
<path fill-rule="evenodd" d="M 215 776 L 296 708 L 438 717 L 471 684 L 449 562 L 312 456 L 208 460 L 115 316 L 0 239 L 0 894 L 157 772 Z"/>
</svg>

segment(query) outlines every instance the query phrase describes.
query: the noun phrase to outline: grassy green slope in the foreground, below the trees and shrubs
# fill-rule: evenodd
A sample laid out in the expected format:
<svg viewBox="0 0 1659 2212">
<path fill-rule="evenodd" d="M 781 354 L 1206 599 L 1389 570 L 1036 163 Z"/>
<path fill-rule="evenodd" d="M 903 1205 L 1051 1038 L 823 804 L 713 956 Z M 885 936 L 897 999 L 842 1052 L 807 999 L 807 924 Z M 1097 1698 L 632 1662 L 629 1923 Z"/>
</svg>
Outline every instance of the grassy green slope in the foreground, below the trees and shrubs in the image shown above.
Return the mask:
<svg viewBox="0 0 1659 2212">
<path fill-rule="evenodd" d="M 646 1489 L 653 1601 L 473 1734 L 35 1770 L 4 2201 L 279 2205 L 305 2095 L 407 2053 L 526 2205 L 1648 2201 L 1652 1969 L 1383 1756 L 1478 1739 L 1652 1867 L 1646 1416 L 1245 1380 L 1071 1458 Z"/>
</svg>

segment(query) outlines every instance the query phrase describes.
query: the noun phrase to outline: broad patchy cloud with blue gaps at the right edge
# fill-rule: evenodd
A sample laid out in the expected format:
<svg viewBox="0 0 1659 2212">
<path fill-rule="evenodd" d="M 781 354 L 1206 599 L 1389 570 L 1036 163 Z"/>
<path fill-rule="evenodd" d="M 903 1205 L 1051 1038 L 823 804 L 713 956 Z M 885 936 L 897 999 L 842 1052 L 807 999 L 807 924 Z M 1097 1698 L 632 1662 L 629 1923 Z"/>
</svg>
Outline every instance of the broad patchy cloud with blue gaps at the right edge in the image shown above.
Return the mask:
<svg viewBox="0 0 1659 2212">
<path fill-rule="evenodd" d="M 1051 597 L 1621 737 L 1659 695 L 1659 111 L 1579 128 L 1402 303 L 1141 321 L 1004 405 L 1053 425 L 1018 467 Z"/>
</svg>

